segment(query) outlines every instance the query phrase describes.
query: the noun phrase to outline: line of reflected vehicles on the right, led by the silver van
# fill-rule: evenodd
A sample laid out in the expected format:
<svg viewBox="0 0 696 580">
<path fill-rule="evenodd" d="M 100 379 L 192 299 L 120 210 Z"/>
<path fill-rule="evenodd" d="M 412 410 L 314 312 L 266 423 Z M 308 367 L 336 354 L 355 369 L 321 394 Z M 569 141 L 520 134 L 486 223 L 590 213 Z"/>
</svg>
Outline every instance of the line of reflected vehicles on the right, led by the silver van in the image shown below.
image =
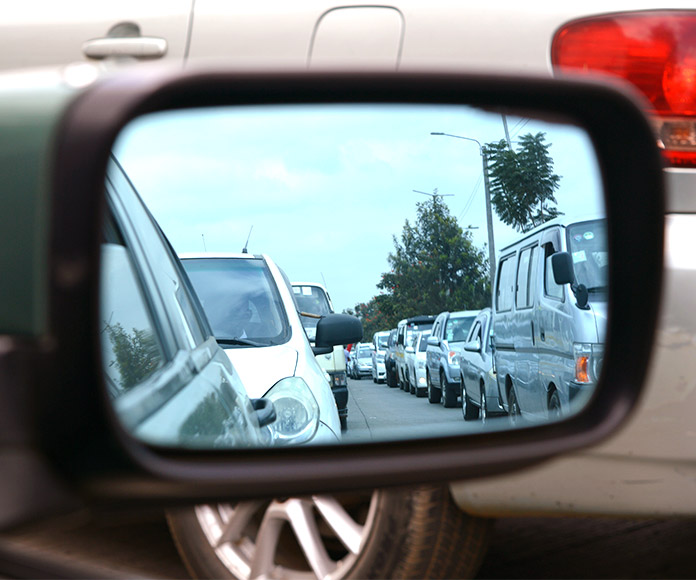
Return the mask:
<svg viewBox="0 0 696 580">
<path fill-rule="evenodd" d="M 606 268 L 604 219 L 547 222 L 500 252 L 492 308 L 377 332 L 356 346 L 351 376 L 369 372 L 375 383 L 461 406 L 467 421 L 567 414 L 601 370 Z"/>
</svg>

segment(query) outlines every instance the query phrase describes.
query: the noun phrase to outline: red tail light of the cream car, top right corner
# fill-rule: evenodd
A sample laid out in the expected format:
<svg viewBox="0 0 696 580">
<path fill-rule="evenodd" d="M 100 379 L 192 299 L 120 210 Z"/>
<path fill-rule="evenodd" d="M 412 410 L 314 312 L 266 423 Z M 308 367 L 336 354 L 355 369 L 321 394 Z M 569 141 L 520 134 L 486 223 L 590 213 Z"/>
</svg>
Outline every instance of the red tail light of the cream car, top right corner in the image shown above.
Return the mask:
<svg viewBox="0 0 696 580">
<path fill-rule="evenodd" d="M 650 103 L 658 145 L 673 166 L 696 167 L 696 11 L 607 14 L 556 33 L 556 72 L 605 74 L 632 83 Z"/>
</svg>

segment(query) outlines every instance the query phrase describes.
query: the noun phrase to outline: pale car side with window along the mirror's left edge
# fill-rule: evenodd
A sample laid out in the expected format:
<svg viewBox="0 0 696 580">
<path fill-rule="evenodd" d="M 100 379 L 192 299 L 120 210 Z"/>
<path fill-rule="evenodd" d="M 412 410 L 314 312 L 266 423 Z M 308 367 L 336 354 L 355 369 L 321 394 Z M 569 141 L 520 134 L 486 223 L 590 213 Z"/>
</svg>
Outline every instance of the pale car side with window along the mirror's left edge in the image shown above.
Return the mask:
<svg viewBox="0 0 696 580">
<path fill-rule="evenodd" d="M 119 418 L 153 444 L 258 445 L 241 382 L 166 238 L 115 163 L 106 189 L 102 352 Z"/>
</svg>

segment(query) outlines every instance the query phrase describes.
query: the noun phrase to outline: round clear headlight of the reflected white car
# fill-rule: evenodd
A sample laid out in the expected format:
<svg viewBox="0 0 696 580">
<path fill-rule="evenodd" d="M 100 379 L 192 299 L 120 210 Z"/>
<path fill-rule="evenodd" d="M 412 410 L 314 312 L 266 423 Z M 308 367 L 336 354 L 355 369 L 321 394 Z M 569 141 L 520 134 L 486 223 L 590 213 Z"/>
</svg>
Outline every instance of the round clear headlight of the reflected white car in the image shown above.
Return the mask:
<svg viewBox="0 0 696 580">
<path fill-rule="evenodd" d="M 266 426 L 271 445 L 297 445 L 314 437 L 319 428 L 319 405 L 300 377 L 278 381 L 264 395 L 273 402 L 276 420 Z"/>
</svg>

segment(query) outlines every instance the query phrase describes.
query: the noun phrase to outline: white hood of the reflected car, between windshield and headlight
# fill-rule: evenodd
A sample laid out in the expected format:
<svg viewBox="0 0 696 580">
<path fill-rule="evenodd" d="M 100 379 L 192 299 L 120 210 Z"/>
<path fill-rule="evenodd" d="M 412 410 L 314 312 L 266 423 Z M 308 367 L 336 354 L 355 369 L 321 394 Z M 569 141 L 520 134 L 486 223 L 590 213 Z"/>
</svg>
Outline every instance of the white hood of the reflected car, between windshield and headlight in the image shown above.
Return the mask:
<svg viewBox="0 0 696 580">
<path fill-rule="evenodd" d="M 225 353 L 252 399 L 263 397 L 280 379 L 294 376 L 297 368 L 297 351 L 287 345 L 226 348 Z"/>
</svg>

